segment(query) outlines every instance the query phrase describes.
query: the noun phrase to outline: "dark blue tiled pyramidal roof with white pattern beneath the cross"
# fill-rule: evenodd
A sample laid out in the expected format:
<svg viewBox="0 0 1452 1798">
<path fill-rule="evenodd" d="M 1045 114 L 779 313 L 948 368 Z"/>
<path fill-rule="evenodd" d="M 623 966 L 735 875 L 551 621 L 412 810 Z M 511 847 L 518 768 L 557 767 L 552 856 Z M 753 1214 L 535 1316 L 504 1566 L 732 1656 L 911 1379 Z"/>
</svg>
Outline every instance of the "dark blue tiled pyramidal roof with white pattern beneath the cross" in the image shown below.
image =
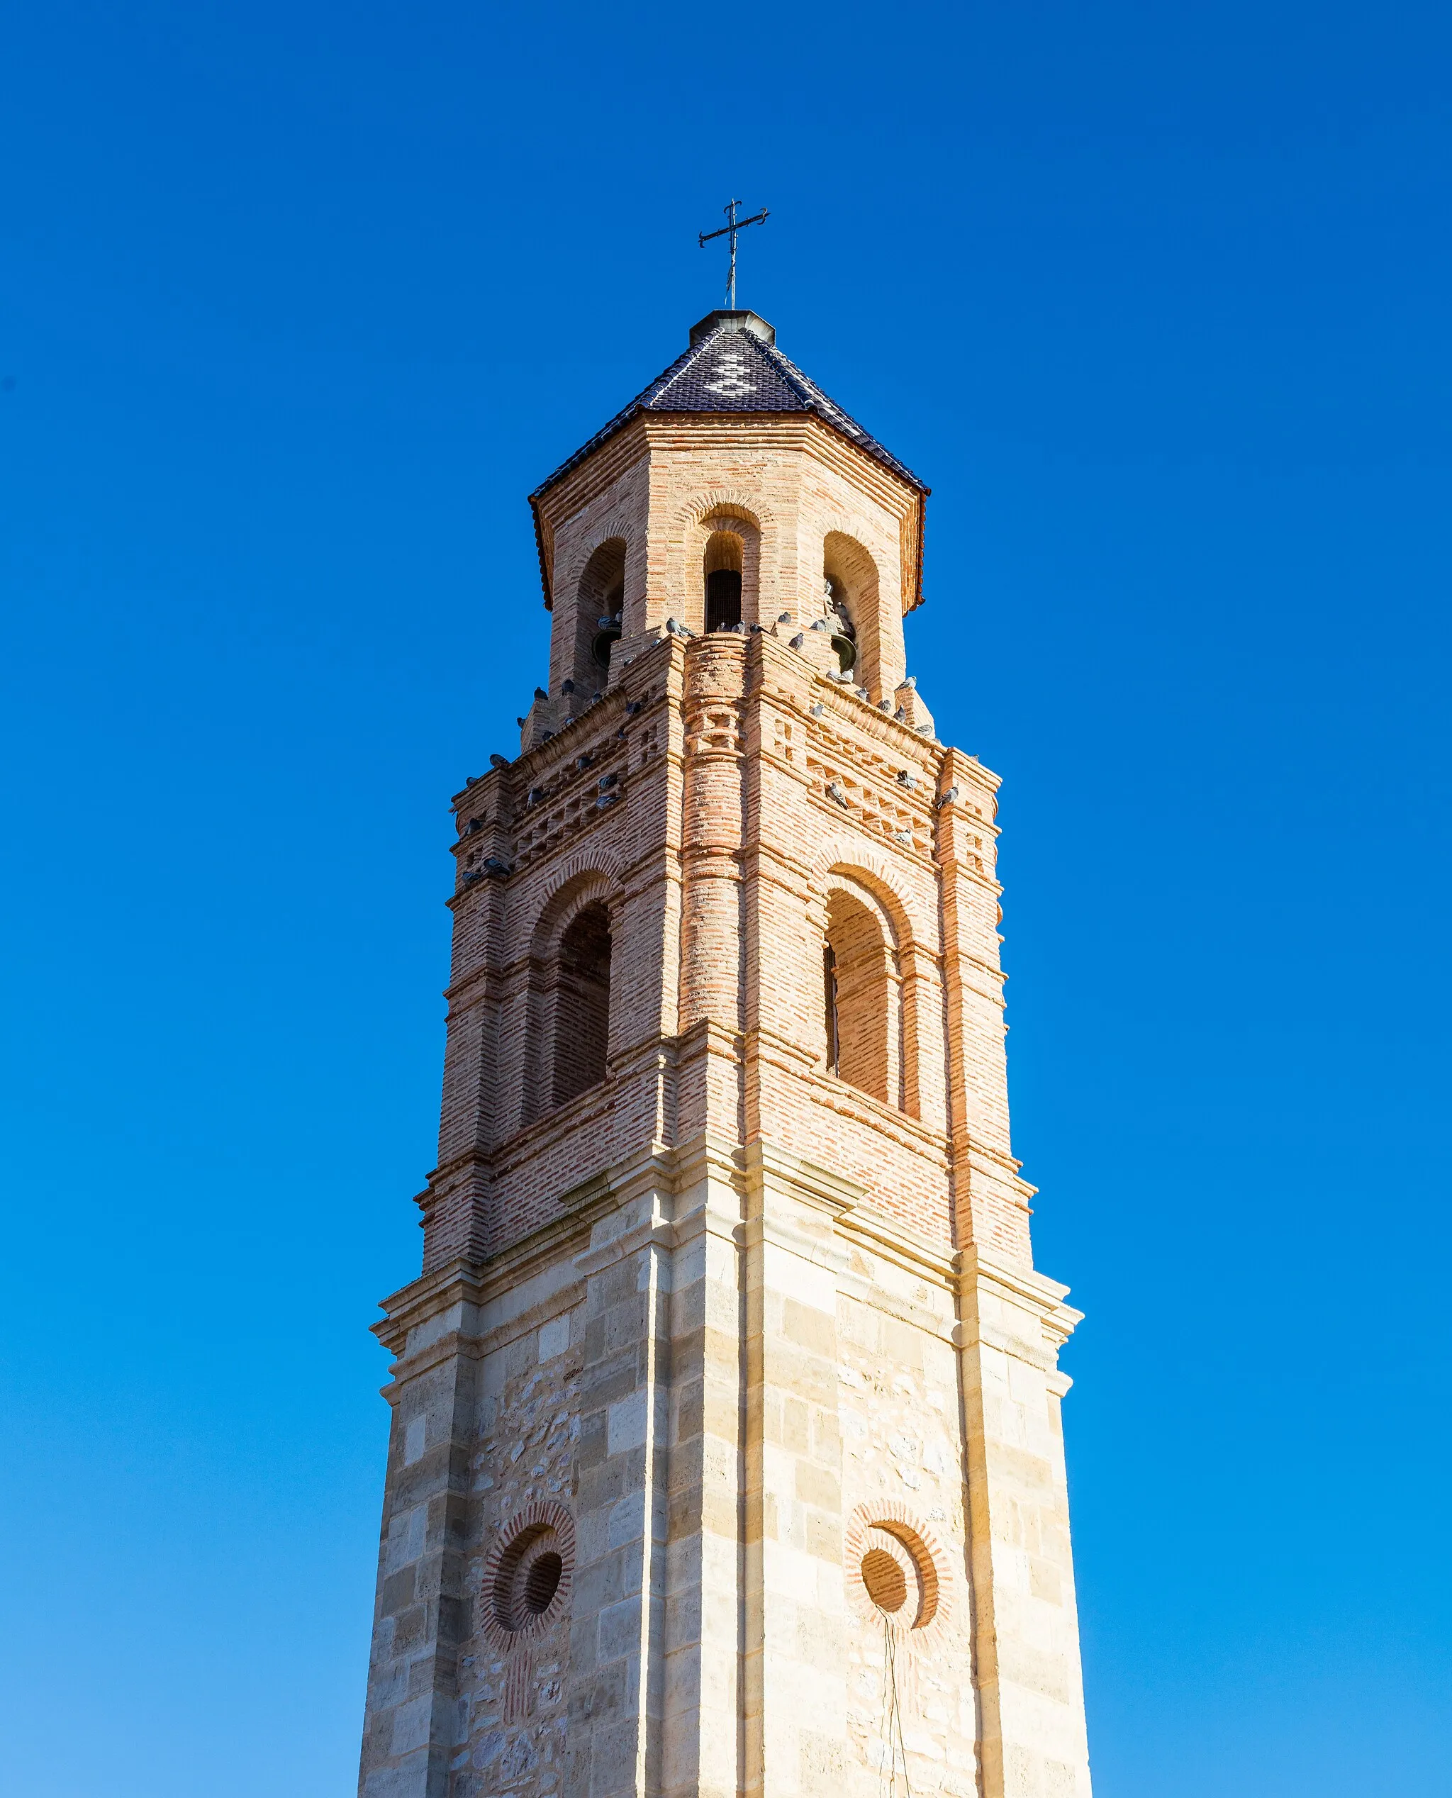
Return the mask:
<svg viewBox="0 0 1452 1798">
<path fill-rule="evenodd" d="M 850 419 L 836 401 L 776 349 L 776 333 L 757 313 L 706 313 L 692 325 L 690 349 L 598 430 L 568 462 L 530 494 L 534 503 L 548 487 L 579 467 L 602 442 L 622 432 L 643 412 L 807 412 L 857 444 L 866 455 L 918 493 L 929 489 L 891 451 Z"/>
</svg>

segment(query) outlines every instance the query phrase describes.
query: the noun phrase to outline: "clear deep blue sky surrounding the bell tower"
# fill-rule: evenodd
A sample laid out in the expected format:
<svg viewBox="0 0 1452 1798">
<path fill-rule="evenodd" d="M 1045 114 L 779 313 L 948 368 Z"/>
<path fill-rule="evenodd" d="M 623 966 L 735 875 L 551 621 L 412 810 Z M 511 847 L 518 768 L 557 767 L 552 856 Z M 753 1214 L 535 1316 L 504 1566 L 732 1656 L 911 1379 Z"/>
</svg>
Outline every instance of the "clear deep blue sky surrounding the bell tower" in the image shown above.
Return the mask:
<svg viewBox="0 0 1452 1798">
<path fill-rule="evenodd" d="M 1443 5 L 0 31 L 16 1798 L 347 1798 L 525 493 L 740 298 L 1005 777 L 1100 1798 L 1452 1791 Z"/>
</svg>

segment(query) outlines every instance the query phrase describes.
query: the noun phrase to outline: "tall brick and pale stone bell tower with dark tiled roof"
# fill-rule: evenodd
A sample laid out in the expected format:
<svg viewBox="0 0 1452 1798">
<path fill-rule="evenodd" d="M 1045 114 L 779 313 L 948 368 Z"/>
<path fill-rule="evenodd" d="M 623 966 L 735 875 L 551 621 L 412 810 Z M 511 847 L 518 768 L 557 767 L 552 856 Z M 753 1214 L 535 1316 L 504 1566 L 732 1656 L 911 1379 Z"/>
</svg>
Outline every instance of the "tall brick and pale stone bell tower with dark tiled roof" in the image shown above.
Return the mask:
<svg viewBox="0 0 1452 1798">
<path fill-rule="evenodd" d="M 1087 1798 L 1008 1140 L 997 777 L 927 489 L 712 313 L 532 496 L 550 674 L 455 800 L 363 1798 Z"/>
</svg>

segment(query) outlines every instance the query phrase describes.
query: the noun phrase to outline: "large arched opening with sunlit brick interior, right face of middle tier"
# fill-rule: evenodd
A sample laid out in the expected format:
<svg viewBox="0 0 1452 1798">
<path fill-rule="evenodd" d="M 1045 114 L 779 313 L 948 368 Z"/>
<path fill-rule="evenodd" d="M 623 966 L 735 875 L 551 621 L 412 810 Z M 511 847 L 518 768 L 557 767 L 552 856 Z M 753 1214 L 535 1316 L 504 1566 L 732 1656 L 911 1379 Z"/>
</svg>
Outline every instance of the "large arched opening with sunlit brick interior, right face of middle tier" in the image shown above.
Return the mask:
<svg viewBox="0 0 1452 1798">
<path fill-rule="evenodd" d="M 900 1104 L 897 958 L 877 913 L 843 888 L 827 899 L 823 1001 L 828 1072 Z"/>
</svg>

